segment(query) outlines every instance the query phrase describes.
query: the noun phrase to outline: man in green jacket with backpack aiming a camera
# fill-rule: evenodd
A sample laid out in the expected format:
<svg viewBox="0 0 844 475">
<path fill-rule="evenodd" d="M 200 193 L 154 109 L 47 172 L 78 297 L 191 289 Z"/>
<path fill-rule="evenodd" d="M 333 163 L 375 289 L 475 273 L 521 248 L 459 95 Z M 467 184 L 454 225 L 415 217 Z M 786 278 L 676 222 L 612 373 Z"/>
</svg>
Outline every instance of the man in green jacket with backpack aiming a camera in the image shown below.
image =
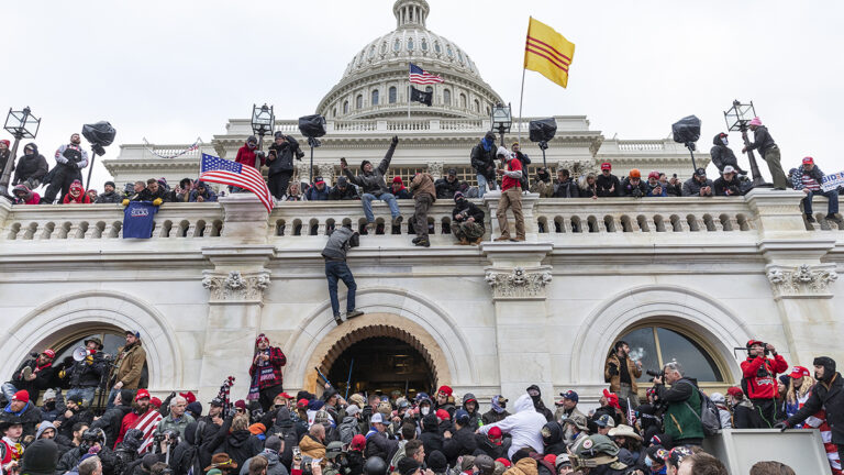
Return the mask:
<svg viewBox="0 0 844 475">
<path fill-rule="evenodd" d="M 664 377 L 655 377 L 656 396 L 665 405 L 663 427 L 674 445 L 700 445 L 703 442 L 701 396 L 698 386 L 684 376 L 682 366 L 670 362 L 663 369 Z M 665 385 L 670 385 L 670 389 Z"/>
</svg>

